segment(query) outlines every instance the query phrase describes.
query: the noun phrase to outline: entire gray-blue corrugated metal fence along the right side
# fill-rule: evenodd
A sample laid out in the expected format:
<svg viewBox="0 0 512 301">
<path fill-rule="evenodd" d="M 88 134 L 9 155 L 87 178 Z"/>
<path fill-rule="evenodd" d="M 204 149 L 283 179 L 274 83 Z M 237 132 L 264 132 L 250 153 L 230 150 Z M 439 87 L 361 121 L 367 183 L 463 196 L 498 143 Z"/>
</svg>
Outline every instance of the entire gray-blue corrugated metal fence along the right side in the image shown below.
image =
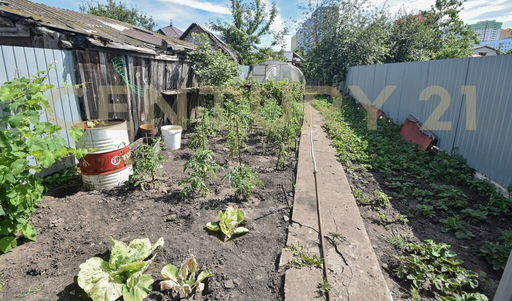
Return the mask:
<svg viewBox="0 0 512 301">
<path fill-rule="evenodd" d="M 347 85 L 359 85 L 374 101 L 383 83 L 397 86 L 382 111 L 397 123 L 413 115 L 425 123 L 441 103 L 439 95 L 420 101 L 429 86 L 447 90 L 450 105 L 434 121 L 450 122 L 450 129 L 431 128 L 438 147 L 455 151 L 467 164 L 504 187 L 512 184 L 512 56 L 488 56 L 350 67 Z M 476 87 L 476 130 L 467 129 L 472 102 L 462 86 Z M 389 93 L 388 93 L 389 94 Z M 351 94 L 353 96 L 353 94 Z"/>
</svg>

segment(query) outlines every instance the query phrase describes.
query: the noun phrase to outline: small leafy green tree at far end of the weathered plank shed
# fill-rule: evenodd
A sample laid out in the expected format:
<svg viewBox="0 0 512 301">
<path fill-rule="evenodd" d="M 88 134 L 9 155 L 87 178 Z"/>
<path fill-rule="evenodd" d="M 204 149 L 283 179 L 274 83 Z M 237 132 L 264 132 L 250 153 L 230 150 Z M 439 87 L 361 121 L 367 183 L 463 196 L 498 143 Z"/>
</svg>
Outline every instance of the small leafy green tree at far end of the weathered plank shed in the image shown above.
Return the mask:
<svg viewBox="0 0 512 301">
<path fill-rule="evenodd" d="M 210 47 L 210 39 L 206 34 L 194 34 L 196 49 L 187 54 L 192 68 L 204 86 L 221 86 L 237 77 L 242 72 L 237 62 L 233 61 L 221 50 Z"/>
</svg>

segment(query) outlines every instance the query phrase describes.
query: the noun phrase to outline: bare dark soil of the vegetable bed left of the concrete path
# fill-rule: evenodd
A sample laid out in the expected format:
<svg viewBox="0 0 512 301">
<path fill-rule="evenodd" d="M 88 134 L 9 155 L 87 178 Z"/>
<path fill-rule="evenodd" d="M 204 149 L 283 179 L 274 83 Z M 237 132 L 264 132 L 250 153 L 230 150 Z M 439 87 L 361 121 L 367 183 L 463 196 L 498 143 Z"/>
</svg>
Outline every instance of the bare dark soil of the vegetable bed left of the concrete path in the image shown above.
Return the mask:
<svg viewBox="0 0 512 301">
<path fill-rule="evenodd" d="M 111 236 L 124 242 L 164 238 L 164 247 L 147 270 L 155 279 L 148 299 L 173 299 L 170 291 L 160 291 L 160 270 L 166 264 L 181 265 L 190 254 L 200 270 L 215 273 L 206 283 L 205 300 L 282 299 L 284 271 L 278 271 L 278 264 L 286 243 L 283 216 L 289 216 L 289 209 L 281 186 L 292 199 L 295 161 L 290 157 L 285 168 L 275 170 L 276 158 L 263 155 L 261 136 L 252 134 L 242 160 L 258 172 L 265 187 L 254 191 L 250 203 L 233 199 L 234 189 L 221 180 L 223 172 L 208 182 L 206 198 L 184 201 L 177 182 L 192 152 L 186 136 L 181 150 L 164 152 L 168 160 L 158 189 L 86 192 L 75 176 L 66 186 L 51 190 L 30 220 L 38 231 L 37 241 L 0 256 L 0 299 L 87 299 L 73 277 L 91 257 L 108 260 Z M 224 139 L 210 138 L 209 145 L 217 162 L 229 171 L 231 158 Z M 205 225 L 217 221 L 217 211 L 229 205 L 246 212 L 242 225 L 250 232 L 223 242 Z"/>
</svg>

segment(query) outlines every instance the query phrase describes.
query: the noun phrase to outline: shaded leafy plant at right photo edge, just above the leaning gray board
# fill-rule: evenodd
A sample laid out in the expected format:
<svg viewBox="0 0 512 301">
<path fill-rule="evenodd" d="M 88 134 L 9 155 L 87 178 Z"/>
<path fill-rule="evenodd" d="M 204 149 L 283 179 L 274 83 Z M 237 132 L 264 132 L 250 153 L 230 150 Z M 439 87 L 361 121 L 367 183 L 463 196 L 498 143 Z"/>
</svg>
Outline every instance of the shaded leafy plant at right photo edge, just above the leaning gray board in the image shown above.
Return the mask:
<svg viewBox="0 0 512 301">
<path fill-rule="evenodd" d="M 512 230 L 502 231 L 501 239 L 503 242 L 485 241 L 480 247 L 478 256 L 485 257 L 488 263 L 493 265 L 493 269 L 505 269 L 510 251 L 512 250 Z"/>
</svg>

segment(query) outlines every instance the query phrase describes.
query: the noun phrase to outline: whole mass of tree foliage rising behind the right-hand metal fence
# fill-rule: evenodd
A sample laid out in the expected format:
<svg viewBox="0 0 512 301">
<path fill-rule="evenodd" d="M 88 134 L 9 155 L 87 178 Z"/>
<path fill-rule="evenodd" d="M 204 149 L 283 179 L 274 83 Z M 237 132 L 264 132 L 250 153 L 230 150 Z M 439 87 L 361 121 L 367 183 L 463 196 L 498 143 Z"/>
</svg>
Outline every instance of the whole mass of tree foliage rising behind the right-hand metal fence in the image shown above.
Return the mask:
<svg viewBox="0 0 512 301">
<path fill-rule="evenodd" d="M 436 0 L 430 10 L 391 16 L 369 0 L 310 2 L 305 74 L 337 84 L 350 66 L 471 56 L 477 40 L 460 19 L 463 3 Z"/>
</svg>

